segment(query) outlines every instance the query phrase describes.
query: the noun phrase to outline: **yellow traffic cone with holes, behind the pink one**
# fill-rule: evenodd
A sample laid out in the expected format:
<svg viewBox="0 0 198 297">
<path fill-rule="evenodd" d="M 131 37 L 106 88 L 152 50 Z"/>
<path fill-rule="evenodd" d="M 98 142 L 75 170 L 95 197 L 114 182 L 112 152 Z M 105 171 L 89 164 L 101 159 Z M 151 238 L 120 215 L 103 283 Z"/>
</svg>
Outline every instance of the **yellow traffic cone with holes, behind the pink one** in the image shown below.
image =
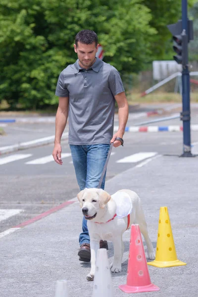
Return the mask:
<svg viewBox="0 0 198 297">
<path fill-rule="evenodd" d="M 166 206 L 160 207 L 155 260 L 147 264 L 161 268 L 186 265 L 186 263 L 177 258 L 168 208 Z"/>
</svg>

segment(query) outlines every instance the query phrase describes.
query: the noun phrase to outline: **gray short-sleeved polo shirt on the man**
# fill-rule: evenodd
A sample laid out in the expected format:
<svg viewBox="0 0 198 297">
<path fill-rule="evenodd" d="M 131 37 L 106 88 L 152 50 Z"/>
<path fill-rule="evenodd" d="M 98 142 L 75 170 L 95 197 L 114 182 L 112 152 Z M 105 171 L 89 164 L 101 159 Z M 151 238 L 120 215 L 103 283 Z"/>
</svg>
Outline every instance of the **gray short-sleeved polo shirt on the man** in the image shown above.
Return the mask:
<svg viewBox="0 0 198 297">
<path fill-rule="evenodd" d="M 96 59 L 90 69 L 79 60 L 59 75 L 55 95 L 69 97 L 69 144 L 109 144 L 113 136 L 114 96 L 124 92 L 119 72 Z"/>
</svg>

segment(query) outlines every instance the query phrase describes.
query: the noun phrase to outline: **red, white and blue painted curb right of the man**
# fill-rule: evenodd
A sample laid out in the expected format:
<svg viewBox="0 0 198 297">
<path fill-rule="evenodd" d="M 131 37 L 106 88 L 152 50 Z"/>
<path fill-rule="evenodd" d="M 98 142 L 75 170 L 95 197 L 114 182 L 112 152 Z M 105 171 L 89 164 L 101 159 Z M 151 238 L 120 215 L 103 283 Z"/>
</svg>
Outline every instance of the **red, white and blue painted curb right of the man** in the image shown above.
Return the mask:
<svg viewBox="0 0 198 297">
<path fill-rule="evenodd" d="M 118 126 L 114 126 L 117 130 Z M 180 132 L 183 126 L 131 126 L 126 127 L 125 132 Z M 191 125 L 191 131 L 198 131 L 198 125 Z"/>
</svg>

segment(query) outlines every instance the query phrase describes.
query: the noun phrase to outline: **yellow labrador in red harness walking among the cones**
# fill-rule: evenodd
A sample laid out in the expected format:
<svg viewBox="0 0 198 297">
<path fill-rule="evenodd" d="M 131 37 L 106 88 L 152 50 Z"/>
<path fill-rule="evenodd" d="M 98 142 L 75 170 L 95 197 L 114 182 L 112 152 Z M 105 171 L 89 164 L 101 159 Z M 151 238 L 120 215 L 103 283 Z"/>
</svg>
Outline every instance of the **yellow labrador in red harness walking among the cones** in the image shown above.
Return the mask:
<svg viewBox="0 0 198 297">
<path fill-rule="evenodd" d="M 140 198 L 135 192 L 131 190 L 120 190 L 110 196 L 102 189 L 86 188 L 77 197 L 80 201 L 82 212 L 88 220 L 90 235 L 91 271 L 87 275 L 88 281 L 93 281 L 94 279 L 96 255 L 100 240 L 112 241 L 114 259 L 111 264 L 111 272 L 118 273 L 121 271 L 124 252 L 122 234 L 131 224 L 139 224 L 140 231 L 147 244 L 148 258 L 154 259 L 154 249 L 148 236 L 145 215 Z"/>
</svg>

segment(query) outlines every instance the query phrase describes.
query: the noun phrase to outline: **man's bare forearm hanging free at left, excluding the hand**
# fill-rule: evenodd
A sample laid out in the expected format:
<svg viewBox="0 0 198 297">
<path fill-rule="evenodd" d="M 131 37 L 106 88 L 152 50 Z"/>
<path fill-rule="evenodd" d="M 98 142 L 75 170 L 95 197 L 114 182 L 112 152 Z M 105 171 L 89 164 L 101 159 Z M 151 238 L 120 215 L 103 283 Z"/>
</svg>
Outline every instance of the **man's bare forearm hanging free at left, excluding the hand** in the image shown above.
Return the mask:
<svg viewBox="0 0 198 297">
<path fill-rule="evenodd" d="M 65 129 L 68 118 L 68 108 L 66 110 L 62 110 L 58 107 L 55 118 L 55 144 L 60 144 L 60 140 L 62 137 L 62 133 Z"/>
</svg>

